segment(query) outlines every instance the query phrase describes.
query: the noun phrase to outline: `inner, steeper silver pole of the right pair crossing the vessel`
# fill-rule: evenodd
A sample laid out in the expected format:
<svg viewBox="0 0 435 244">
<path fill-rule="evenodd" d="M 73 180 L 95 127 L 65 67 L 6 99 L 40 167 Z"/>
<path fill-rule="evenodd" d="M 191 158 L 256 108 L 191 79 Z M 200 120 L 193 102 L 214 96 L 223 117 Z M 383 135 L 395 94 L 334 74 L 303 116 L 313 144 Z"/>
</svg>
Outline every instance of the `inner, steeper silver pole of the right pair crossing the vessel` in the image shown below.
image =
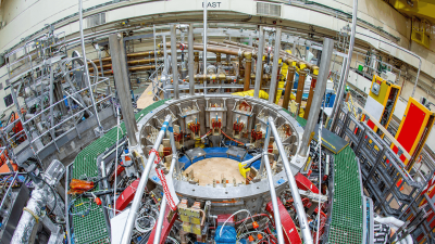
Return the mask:
<svg viewBox="0 0 435 244">
<path fill-rule="evenodd" d="M 277 60 L 277 59 L 275 59 L 275 60 Z M 269 127 L 266 129 L 265 137 L 266 138 L 271 137 L 271 131 L 270 131 Z M 266 139 L 266 141 L 269 141 L 269 139 Z M 281 226 L 279 208 L 278 208 L 278 202 L 276 200 L 275 184 L 273 182 L 271 164 L 269 162 L 268 145 L 269 145 L 269 143 L 264 144 L 264 152 L 263 152 L 263 160 L 262 162 L 264 162 L 265 171 L 268 174 L 268 182 L 269 182 L 269 189 L 270 189 L 271 200 L 272 200 L 273 217 L 275 218 L 276 233 L 278 235 L 278 243 L 284 243 L 283 227 Z"/>
</svg>

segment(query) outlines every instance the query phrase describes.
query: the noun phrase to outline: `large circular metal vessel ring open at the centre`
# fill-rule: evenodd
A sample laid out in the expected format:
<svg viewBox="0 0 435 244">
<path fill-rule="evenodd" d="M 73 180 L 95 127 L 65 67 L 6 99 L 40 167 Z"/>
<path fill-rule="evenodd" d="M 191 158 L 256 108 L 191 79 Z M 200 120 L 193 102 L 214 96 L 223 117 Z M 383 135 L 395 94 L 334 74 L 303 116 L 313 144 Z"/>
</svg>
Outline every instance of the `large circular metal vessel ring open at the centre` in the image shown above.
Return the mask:
<svg viewBox="0 0 435 244">
<path fill-rule="evenodd" d="M 210 130 L 210 123 L 208 121 L 210 120 L 210 113 L 213 113 L 212 116 L 214 116 L 214 112 L 210 112 L 207 108 L 210 107 L 210 104 L 223 104 L 226 111 L 222 112 L 223 114 L 221 115 L 223 118 L 222 131 L 225 134 L 233 134 L 233 126 L 228 125 L 232 125 L 233 120 L 235 119 L 234 116 L 237 116 L 235 107 L 237 104 L 243 102 L 249 103 L 252 106 L 252 113 L 251 116 L 249 116 L 249 121 L 247 123 L 247 130 L 249 131 L 248 138 L 250 138 L 251 129 L 253 129 L 256 126 L 264 124 L 264 121 L 266 121 L 266 117 L 269 116 L 275 119 L 275 125 L 277 128 L 283 125 L 289 127 L 291 136 L 281 140 L 285 146 L 288 146 L 289 159 L 291 159 L 293 155 L 296 154 L 300 146 L 301 137 L 303 133 L 303 128 L 296 121 L 296 119 L 276 104 L 270 104 L 264 100 L 254 99 L 251 97 L 238 97 L 231 94 L 182 97 L 177 101 L 166 101 L 164 105 L 156 108 L 151 113 L 148 113 L 138 121 L 138 128 L 140 131 L 138 140 L 140 141 L 142 153 L 148 155 L 151 147 L 150 145 L 152 145 L 150 133 L 152 133 L 152 130 L 160 130 L 160 127 L 162 126 L 163 119 L 166 115 L 173 115 L 173 126 L 178 125 L 182 130 L 186 130 L 187 126 L 185 119 L 188 117 L 188 113 L 184 113 L 186 107 L 192 108 L 191 111 L 194 112 L 191 113 L 197 113 L 198 116 L 196 119 L 198 119 L 201 125 L 200 134 L 202 136 Z M 244 140 L 246 141 L 249 139 Z M 192 143 L 195 143 L 194 140 L 185 141 L 186 146 L 189 147 L 194 146 Z M 254 147 L 253 143 L 251 146 Z M 273 182 L 275 183 L 274 187 L 279 195 L 287 185 L 287 177 L 284 167 L 282 166 L 282 162 L 276 155 L 275 160 L 277 162 L 277 166 L 273 176 Z M 294 175 L 296 175 L 300 167 L 291 165 Z M 220 179 L 221 174 L 215 172 L 211 177 Z M 214 185 L 199 185 L 196 182 L 182 179 L 183 177 L 175 171 L 173 178 L 175 191 L 178 197 L 184 197 L 191 201 L 211 201 L 213 213 L 233 213 L 234 210 L 240 208 L 247 208 L 256 213 L 260 211 L 260 209 L 264 207 L 265 203 L 270 201 L 269 183 L 265 177 L 265 171 L 260 179 L 252 180 L 249 184 L 237 183 L 236 185 L 234 185 L 233 179 L 229 179 L 229 182 L 226 185 L 222 183 Z M 151 170 L 149 179 L 159 185 L 159 188 L 161 188 L 161 183 L 157 177 L 156 170 Z"/>
</svg>

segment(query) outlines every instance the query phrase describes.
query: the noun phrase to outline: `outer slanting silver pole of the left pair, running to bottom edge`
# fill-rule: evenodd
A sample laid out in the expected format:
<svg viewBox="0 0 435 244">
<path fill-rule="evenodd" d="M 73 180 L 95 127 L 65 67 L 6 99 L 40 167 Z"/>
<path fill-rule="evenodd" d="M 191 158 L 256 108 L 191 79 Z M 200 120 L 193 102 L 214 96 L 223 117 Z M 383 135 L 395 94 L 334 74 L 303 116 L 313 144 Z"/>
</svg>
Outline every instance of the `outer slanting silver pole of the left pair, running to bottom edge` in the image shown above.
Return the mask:
<svg viewBox="0 0 435 244">
<path fill-rule="evenodd" d="M 172 120 L 172 116 L 166 115 L 163 126 L 160 129 L 159 136 L 156 139 L 156 143 L 152 146 L 153 150 L 156 150 L 156 151 L 159 150 L 159 146 L 160 146 L 160 144 L 164 138 L 164 134 L 166 132 L 167 125 L 171 120 Z M 156 153 L 151 153 L 150 156 L 148 157 L 147 165 L 144 168 L 142 176 L 140 177 L 140 181 L 137 187 L 135 198 L 133 198 L 132 207 L 128 213 L 127 221 L 125 222 L 125 228 L 124 228 L 124 232 L 123 232 L 122 240 L 121 240 L 122 244 L 130 243 L 132 232 L 133 232 L 133 228 L 134 228 L 135 220 L 137 217 L 137 210 L 139 209 L 140 202 L 142 200 L 142 195 L 144 195 L 145 187 L 147 185 L 149 172 L 151 171 L 151 168 L 154 164 L 154 157 L 156 157 Z"/>
</svg>

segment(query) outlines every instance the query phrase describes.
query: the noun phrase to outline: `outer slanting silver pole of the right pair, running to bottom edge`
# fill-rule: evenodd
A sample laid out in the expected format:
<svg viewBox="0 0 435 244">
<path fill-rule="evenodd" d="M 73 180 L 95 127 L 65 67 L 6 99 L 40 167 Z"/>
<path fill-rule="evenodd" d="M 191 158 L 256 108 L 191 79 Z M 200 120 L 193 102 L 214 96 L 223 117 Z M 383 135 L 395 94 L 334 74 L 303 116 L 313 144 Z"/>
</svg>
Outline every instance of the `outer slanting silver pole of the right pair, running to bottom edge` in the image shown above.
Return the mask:
<svg viewBox="0 0 435 244">
<path fill-rule="evenodd" d="M 269 117 L 269 127 L 271 128 L 273 136 L 275 138 L 279 138 L 273 118 L 271 117 Z M 296 184 L 295 176 L 291 172 L 290 163 L 288 162 L 288 156 L 284 150 L 283 142 L 281 140 L 275 140 L 275 142 L 276 146 L 278 147 L 281 158 L 283 159 L 283 165 L 286 170 L 288 184 L 290 185 L 291 196 L 293 200 L 295 201 L 294 203 L 295 203 L 296 214 L 298 215 L 299 227 L 302 232 L 303 243 L 312 244 L 313 240 L 311 236 L 310 228 L 308 227 L 307 214 L 303 209 L 302 201 L 300 198 L 298 185 Z"/>
</svg>

